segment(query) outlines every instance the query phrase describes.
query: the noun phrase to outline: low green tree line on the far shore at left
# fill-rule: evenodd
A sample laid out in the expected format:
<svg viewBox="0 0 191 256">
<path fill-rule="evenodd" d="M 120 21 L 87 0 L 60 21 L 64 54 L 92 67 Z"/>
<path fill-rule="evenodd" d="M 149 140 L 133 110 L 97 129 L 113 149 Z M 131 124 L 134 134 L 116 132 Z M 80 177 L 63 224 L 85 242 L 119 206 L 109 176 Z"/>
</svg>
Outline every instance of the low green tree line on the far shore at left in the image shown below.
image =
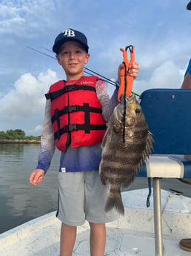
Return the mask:
<svg viewBox="0 0 191 256">
<path fill-rule="evenodd" d="M 40 140 L 41 137 L 26 136 L 21 129 L 0 131 L 0 140 Z"/>
</svg>

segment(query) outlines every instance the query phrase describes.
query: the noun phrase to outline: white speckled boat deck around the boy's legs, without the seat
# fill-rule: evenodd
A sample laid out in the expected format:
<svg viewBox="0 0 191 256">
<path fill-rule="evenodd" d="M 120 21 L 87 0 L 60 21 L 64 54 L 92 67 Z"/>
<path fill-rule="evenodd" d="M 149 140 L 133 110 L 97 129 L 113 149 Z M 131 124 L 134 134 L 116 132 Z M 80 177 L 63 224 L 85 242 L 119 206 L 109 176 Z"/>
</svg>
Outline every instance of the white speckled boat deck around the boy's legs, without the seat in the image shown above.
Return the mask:
<svg viewBox="0 0 191 256">
<path fill-rule="evenodd" d="M 123 193 L 125 216 L 107 223 L 105 256 L 155 255 L 153 197 L 147 209 L 147 192 L 141 189 Z M 191 255 L 178 246 L 181 238 L 191 237 L 191 198 L 170 194 L 161 191 L 164 256 Z M 0 255 L 58 256 L 61 223 L 55 214 L 46 214 L 0 234 Z M 88 223 L 78 227 L 73 255 L 90 256 L 89 234 Z"/>
</svg>

